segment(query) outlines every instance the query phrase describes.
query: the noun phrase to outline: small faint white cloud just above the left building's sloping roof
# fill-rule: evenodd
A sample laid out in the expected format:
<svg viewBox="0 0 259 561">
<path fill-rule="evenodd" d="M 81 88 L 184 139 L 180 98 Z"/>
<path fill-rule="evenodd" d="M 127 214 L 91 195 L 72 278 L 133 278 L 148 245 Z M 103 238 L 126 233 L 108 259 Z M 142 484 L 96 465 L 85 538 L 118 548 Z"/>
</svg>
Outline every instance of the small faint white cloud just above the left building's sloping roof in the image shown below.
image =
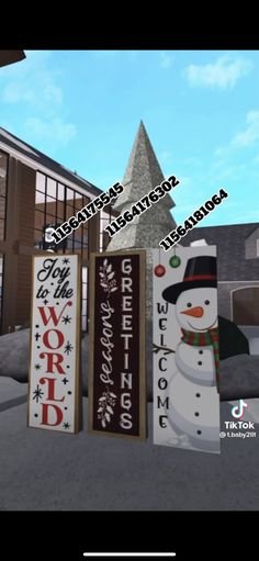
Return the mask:
<svg viewBox="0 0 259 561">
<path fill-rule="evenodd" d="M 30 117 L 25 121 L 24 128 L 35 141 L 47 142 L 54 148 L 65 146 L 77 132 L 72 123 L 65 123 L 59 117 L 52 121 Z"/>
</svg>

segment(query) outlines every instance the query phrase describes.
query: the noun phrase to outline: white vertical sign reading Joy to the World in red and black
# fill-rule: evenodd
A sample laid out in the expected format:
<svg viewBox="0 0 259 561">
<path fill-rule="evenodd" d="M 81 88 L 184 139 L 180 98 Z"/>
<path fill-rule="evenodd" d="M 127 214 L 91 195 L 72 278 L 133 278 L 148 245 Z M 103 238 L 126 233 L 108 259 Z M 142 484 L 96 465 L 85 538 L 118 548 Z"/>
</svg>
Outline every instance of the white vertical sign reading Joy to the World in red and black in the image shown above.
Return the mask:
<svg viewBox="0 0 259 561">
<path fill-rule="evenodd" d="M 29 425 L 79 430 L 80 267 L 77 255 L 33 258 Z"/>
</svg>

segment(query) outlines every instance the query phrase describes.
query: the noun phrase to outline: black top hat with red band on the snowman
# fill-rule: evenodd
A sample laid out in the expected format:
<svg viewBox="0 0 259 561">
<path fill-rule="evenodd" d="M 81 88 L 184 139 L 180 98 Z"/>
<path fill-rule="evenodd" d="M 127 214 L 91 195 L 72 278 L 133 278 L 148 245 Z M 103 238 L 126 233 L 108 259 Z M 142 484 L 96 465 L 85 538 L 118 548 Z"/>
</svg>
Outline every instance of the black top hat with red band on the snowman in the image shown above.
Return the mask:
<svg viewBox="0 0 259 561">
<path fill-rule="evenodd" d="M 198 256 L 188 259 L 182 282 L 171 284 L 162 292 L 162 298 L 171 304 L 176 304 L 178 296 L 184 290 L 217 287 L 216 257 L 210 255 Z"/>
</svg>

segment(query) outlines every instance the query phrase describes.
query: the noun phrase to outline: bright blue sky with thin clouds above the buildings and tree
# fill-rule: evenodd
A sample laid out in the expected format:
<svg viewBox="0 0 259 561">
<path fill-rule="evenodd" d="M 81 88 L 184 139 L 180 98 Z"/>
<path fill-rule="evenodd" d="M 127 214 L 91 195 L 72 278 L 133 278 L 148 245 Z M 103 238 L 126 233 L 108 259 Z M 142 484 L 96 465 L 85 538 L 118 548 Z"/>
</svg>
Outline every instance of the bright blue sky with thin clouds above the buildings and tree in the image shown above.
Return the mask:
<svg viewBox="0 0 259 561">
<path fill-rule="evenodd" d="M 259 221 L 259 52 L 26 51 L 0 69 L 0 125 L 106 190 L 144 121 L 180 224 Z"/>
</svg>

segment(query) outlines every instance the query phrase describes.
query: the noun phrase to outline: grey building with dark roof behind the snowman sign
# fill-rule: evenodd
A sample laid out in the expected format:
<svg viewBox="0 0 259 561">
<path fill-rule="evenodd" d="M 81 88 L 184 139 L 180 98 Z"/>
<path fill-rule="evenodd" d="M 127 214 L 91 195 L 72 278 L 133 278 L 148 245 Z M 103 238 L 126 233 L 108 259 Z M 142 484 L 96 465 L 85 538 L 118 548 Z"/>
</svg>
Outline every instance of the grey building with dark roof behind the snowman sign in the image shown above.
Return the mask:
<svg viewBox="0 0 259 561">
<path fill-rule="evenodd" d="M 252 327 L 257 333 L 259 327 L 259 223 L 195 227 L 183 238 L 182 245 L 190 245 L 198 239 L 205 239 L 206 244 L 217 246 L 219 315 L 239 326 Z M 245 333 L 246 330 L 244 328 Z"/>
</svg>

